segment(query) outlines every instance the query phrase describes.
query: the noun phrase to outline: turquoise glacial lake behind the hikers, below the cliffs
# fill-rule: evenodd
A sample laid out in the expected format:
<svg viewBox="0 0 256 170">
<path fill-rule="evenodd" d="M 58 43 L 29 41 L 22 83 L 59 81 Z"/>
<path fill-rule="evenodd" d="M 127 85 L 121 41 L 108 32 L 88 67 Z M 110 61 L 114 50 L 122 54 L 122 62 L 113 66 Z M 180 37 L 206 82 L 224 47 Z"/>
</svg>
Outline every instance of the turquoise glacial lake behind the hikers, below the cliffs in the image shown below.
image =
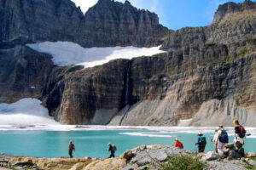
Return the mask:
<svg viewBox="0 0 256 170">
<path fill-rule="evenodd" d="M 125 150 L 130 150 L 143 144 L 173 145 L 176 138 L 180 139 L 185 150 L 196 151 L 195 142 L 197 142 L 196 133 L 198 131 L 206 132 L 206 150 L 213 150 L 211 139 L 214 128 L 201 128 L 196 131 L 189 128 L 186 128 L 186 130 L 183 128 L 170 129 L 172 127 L 169 127 L 169 130 L 166 131 L 164 131 L 165 129 L 0 130 L 0 152 L 34 157 L 68 156 L 68 144 L 69 140 L 72 139 L 76 148 L 76 151 L 73 152 L 74 157 L 108 157 L 109 142 L 117 146 L 116 156 L 119 156 Z M 255 132 L 254 130 L 251 129 L 252 132 Z M 233 141 L 232 131 L 232 128 L 230 128 L 230 141 Z M 255 138 L 247 138 L 245 143 L 246 152 L 256 152 Z"/>
</svg>

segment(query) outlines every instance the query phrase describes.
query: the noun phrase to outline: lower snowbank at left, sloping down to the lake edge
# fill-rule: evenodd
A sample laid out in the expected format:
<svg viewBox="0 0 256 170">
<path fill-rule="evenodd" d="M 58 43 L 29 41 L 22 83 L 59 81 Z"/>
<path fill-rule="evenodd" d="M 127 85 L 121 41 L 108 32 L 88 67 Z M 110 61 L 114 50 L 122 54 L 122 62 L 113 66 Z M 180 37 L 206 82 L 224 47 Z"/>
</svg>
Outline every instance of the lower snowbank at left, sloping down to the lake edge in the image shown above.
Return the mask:
<svg viewBox="0 0 256 170">
<path fill-rule="evenodd" d="M 25 98 L 12 104 L 0 104 L 0 125 L 59 124 L 49 116 L 38 99 Z"/>
</svg>

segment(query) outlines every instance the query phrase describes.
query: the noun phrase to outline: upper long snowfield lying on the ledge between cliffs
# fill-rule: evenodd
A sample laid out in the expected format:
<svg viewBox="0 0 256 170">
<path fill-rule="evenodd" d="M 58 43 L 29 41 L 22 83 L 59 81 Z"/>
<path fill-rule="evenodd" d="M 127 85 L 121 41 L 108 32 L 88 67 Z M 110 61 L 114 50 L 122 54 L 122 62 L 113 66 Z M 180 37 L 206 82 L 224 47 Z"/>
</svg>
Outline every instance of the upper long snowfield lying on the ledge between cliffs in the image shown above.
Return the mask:
<svg viewBox="0 0 256 170">
<path fill-rule="evenodd" d="M 55 65 L 84 65 L 84 68 L 108 63 L 113 59 L 132 59 L 141 56 L 166 53 L 159 47 L 109 47 L 109 48 L 83 48 L 74 42 L 39 42 L 26 44 L 40 53 L 53 56 Z"/>
</svg>

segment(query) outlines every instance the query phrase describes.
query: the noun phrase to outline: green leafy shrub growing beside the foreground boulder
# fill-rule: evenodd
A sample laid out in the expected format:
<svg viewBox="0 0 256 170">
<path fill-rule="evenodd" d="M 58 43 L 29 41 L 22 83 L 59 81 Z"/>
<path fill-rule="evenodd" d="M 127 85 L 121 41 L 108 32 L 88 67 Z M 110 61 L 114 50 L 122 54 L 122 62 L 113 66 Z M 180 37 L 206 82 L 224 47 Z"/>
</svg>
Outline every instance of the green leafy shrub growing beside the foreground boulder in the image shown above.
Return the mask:
<svg viewBox="0 0 256 170">
<path fill-rule="evenodd" d="M 169 156 L 166 162 L 158 162 L 160 170 L 202 170 L 206 166 L 193 156 Z"/>
</svg>

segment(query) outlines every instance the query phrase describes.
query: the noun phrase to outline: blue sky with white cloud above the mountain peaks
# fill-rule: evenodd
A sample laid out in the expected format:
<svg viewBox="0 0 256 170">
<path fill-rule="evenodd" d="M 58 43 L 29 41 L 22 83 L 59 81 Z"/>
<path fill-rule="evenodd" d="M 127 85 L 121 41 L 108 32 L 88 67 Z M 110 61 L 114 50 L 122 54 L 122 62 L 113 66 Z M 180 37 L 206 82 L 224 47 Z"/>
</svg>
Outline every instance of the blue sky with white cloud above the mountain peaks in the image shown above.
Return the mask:
<svg viewBox="0 0 256 170">
<path fill-rule="evenodd" d="M 116 0 L 124 3 L 125 0 Z M 93 6 L 97 0 L 73 0 L 83 12 Z M 218 5 L 229 0 L 130 0 L 137 8 L 148 9 L 160 18 L 160 24 L 172 30 L 186 26 L 207 26 L 212 23 Z M 242 3 L 244 0 L 233 0 Z M 255 0 L 253 0 L 255 2 Z"/>
</svg>

